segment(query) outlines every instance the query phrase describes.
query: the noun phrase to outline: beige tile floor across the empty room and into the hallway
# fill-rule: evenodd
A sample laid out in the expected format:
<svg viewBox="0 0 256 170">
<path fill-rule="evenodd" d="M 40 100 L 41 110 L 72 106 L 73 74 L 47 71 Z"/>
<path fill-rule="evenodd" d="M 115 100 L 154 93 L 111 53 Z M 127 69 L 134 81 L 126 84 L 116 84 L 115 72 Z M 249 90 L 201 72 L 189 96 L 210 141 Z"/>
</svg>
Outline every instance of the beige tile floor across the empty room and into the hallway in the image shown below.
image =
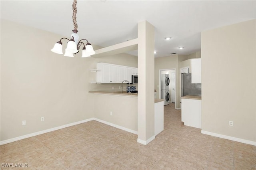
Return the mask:
<svg viewBox="0 0 256 170">
<path fill-rule="evenodd" d="M 256 146 L 200 133 L 164 107 L 164 131 L 144 146 L 137 135 L 90 121 L 0 147 L 2 163 L 31 170 L 256 170 Z"/>
</svg>

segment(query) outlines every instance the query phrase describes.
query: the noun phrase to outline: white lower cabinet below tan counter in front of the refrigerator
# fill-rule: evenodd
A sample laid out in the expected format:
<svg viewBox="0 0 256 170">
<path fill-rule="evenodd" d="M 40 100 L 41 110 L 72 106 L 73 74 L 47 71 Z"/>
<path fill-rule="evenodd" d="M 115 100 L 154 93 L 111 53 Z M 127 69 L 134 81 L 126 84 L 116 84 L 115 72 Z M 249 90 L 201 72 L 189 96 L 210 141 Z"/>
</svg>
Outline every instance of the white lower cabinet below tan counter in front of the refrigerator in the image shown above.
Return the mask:
<svg viewBox="0 0 256 170">
<path fill-rule="evenodd" d="M 181 99 L 181 121 L 184 125 L 202 128 L 202 103 L 197 99 Z"/>
</svg>

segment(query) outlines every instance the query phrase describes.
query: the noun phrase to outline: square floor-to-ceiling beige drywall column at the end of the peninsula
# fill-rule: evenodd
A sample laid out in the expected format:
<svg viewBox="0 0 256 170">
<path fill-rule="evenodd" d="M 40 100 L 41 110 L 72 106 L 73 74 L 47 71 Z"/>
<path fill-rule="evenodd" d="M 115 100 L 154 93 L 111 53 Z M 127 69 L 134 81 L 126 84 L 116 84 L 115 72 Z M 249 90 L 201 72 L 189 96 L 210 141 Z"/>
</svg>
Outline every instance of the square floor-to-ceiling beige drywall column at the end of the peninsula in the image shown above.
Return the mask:
<svg viewBox="0 0 256 170">
<path fill-rule="evenodd" d="M 154 140 L 154 26 L 138 23 L 138 140 Z"/>
</svg>

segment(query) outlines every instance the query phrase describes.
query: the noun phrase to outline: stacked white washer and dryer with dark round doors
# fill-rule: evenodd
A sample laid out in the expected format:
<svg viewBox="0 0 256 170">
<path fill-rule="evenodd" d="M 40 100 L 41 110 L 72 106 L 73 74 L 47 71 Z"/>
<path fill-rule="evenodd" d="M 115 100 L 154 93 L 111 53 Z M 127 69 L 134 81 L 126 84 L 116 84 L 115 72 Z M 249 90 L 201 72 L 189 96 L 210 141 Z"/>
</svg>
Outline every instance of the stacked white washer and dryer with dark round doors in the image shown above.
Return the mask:
<svg viewBox="0 0 256 170">
<path fill-rule="evenodd" d="M 161 75 L 161 91 L 162 91 L 162 97 L 161 99 L 164 99 L 164 106 L 169 105 L 169 84 L 170 84 L 170 78 L 168 74 L 162 74 Z"/>
</svg>

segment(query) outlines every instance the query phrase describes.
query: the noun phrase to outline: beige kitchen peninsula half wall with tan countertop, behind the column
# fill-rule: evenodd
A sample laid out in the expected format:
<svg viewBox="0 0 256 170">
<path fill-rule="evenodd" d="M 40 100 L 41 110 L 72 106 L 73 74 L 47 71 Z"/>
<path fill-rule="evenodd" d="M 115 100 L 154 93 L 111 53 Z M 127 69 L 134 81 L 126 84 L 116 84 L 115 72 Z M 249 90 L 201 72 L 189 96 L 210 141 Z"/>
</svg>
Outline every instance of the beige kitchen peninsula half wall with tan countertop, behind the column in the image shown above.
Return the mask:
<svg viewBox="0 0 256 170">
<path fill-rule="evenodd" d="M 94 113 L 99 121 L 138 134 L 138 93 L 89 91 L 97 106 Z M 164 130 L 164 101 L 155 99 L 155 135 Z"/>
</svg>

